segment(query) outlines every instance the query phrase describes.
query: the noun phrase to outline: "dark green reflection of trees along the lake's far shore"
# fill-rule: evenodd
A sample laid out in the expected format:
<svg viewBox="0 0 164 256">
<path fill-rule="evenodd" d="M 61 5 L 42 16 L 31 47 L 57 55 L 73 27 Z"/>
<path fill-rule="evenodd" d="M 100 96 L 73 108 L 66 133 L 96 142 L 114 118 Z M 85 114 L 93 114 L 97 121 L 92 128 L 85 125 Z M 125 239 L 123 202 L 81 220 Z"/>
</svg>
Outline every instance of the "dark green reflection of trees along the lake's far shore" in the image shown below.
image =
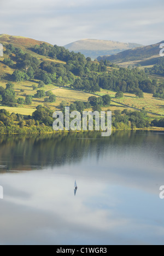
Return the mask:
<svg viewBox="0 0 164 256">
<path fill-rule="evenodd" d="M 117 157 L 123 147 L 135 150 L 150 144 L 162 150 L 163 136 L 147 135 L 150 132 L 117 131 L 110 137 L 101 137 L 100 132 L 3 136 L 0 137 L 0 165 L 7 167 L 0 171 L 61 166 L 92 155 L 98 159 L 109 152 Z"/>
</svg>

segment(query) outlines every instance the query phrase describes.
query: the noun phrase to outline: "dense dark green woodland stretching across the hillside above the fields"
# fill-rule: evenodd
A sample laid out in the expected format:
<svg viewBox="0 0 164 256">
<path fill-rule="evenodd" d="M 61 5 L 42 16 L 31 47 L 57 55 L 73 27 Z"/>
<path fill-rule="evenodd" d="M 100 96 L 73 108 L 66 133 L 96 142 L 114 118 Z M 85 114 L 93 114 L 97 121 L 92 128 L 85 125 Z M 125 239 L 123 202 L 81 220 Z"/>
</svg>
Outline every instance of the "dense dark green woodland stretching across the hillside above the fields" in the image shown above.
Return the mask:
<svg viewBox="0 0 164 256">
<path fill-rule="evenodd" d="M 142 90 L 154 94 L 157 90 L 156 80 L 150 80 L 139 68 L 119 68 L 107 60 L 93 62 L 90 57 L 85 58 L 80 53 L 70 53 L 63 47 L 45 43 L 34 46 L 32 50 L 42 56 L 49 56 L 66 63 L 39 61 L 11 44 L 6 47 L 5 53 L 9 58 L 4 59 L 4 63 L 17 69 L 12 75 L 16 82 L 35 78 L 42 80 L 44 84 L 69 84 L 72 88 L 91 92 L 103 88 L 131 93 Z M 108 67 L 113 69 L 108 70 Z"/>
</svg>

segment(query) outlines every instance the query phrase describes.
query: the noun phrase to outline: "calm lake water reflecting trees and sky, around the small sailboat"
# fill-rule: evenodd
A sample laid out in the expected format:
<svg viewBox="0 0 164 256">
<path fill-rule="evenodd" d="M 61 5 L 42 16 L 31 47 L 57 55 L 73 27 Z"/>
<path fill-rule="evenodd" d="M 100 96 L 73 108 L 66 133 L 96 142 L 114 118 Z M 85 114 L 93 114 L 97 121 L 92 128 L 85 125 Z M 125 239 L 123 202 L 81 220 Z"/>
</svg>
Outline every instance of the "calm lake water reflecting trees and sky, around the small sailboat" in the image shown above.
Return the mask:
<svg viewBox="0 0 164 256">
<path fill-rule="evenodd" d="M 164 245 L 163 135 L 0 137 L 0 244 Z"/>
</svg>

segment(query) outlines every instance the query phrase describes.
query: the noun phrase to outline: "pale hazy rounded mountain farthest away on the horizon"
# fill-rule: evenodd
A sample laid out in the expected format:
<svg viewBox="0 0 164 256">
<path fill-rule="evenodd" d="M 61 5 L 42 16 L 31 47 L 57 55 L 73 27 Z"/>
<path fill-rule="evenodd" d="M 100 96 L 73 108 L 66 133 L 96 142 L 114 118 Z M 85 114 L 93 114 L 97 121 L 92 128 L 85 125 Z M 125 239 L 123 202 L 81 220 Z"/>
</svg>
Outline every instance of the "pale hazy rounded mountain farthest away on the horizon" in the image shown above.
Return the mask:
<svg viewBox="0 0 164 256">
<path fill-rule="evenodd" d="M 85 57 L 96 59 L 100 55 L 112 55 L 127 49 L 141 46 L 136 43 L 120 43 L 108 40 L 82 39 L 65 45 L 65 48 L 75 53 L 84 54 Z"/>
</svg>

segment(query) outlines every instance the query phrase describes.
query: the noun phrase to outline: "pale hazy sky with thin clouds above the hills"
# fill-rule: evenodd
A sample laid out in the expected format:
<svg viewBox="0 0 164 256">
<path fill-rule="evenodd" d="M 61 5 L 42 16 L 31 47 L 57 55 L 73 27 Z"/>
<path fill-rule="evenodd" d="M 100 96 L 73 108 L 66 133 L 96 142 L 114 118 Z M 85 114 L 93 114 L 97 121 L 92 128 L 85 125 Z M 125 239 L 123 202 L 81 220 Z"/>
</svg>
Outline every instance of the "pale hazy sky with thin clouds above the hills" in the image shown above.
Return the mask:
<svg viewBox="0 0 164 256">
<path fill-rule="evenodd" d="M 163 0 L 1 0 L 0 33 L 65 45 L 92 38 L 151 44 L 163 38 Z"/>
</svg>

